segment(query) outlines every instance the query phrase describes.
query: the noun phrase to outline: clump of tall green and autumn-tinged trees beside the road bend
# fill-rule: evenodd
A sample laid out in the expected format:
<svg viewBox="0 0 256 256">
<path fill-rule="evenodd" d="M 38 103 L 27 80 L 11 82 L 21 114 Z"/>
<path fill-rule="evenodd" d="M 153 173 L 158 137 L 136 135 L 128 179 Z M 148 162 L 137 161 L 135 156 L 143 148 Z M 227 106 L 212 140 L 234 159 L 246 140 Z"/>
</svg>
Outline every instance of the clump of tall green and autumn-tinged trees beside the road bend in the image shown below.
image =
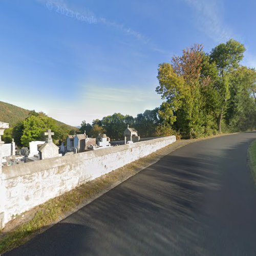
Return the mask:
<svg viewBox="0 0 256 256">
<path fill-rule="evenodd" d="M 158 70 L 157 93 L 163 134 L 169 125 L 184 138 L 218 132 L 252 130 L 256 126 L 255 70 L 241 67 L 244 46 L 233 39 L 212 49 L 200 45 L 183 50 Z M 254 97 L 254 98 L 253 98 Z M 159 132 L 159 133 L 160 133 Z"/>
</svg>

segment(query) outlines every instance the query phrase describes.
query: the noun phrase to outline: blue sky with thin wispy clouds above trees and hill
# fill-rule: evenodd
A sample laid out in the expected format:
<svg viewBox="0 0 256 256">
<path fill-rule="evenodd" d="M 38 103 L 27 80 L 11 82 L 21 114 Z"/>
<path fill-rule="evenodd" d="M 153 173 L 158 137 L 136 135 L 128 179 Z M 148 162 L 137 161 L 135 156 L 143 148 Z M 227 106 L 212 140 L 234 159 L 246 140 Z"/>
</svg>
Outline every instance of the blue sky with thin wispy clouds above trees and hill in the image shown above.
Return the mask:
<svg viewBox="0 0 256 256">
<path fill-rule="evenodd" d="M 1 0 L 0 100 L 71 125 L 161 104 L 159 63 L 229 38 L 256 67 L 256 3 Z"/>
</svg>

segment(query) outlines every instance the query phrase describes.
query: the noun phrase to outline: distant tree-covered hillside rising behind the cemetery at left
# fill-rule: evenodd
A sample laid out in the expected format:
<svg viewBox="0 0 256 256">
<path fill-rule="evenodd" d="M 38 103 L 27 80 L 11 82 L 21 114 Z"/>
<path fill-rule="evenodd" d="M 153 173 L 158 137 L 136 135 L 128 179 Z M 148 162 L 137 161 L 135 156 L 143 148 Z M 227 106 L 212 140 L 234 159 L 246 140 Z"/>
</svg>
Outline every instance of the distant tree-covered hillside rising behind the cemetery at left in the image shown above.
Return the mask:
<svg viewBox="0 0 256 256">
<path fill-rule="evenodd" d="M 29 115 L 29 110 L 20 108 L 19 106 L 15 106 L 3 101 L 0 101 L 0 121 L 9 123 L 11 127 L 13 127 L 17 122 L 23 121 Z M 65 127 L 69 130 L 77 130 L 76 127 L 68 125 L 66 123 L 62 123 L 56 120 L 58 126 Z"/>
</svg>

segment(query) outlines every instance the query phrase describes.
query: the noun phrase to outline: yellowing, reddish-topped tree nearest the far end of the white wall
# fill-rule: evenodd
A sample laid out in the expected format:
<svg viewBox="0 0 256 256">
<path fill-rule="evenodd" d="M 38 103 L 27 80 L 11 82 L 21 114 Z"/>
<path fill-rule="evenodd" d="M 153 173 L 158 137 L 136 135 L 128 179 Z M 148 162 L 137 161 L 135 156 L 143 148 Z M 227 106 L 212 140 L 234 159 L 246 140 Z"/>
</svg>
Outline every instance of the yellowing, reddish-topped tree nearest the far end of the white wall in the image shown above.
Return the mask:
<svg viewBox="0 0 256 256">
<path fill-rule="evenodd" d="M 183 137 L 197 137 L 203 131 L 200 94 L 201 69 L 204 52 L 201 45 L 183 50 L 172 63 L 159 66 L 157 93 L 165 101 L 159 115 L 166 124 L 174 124 Z"/>
</svg>

